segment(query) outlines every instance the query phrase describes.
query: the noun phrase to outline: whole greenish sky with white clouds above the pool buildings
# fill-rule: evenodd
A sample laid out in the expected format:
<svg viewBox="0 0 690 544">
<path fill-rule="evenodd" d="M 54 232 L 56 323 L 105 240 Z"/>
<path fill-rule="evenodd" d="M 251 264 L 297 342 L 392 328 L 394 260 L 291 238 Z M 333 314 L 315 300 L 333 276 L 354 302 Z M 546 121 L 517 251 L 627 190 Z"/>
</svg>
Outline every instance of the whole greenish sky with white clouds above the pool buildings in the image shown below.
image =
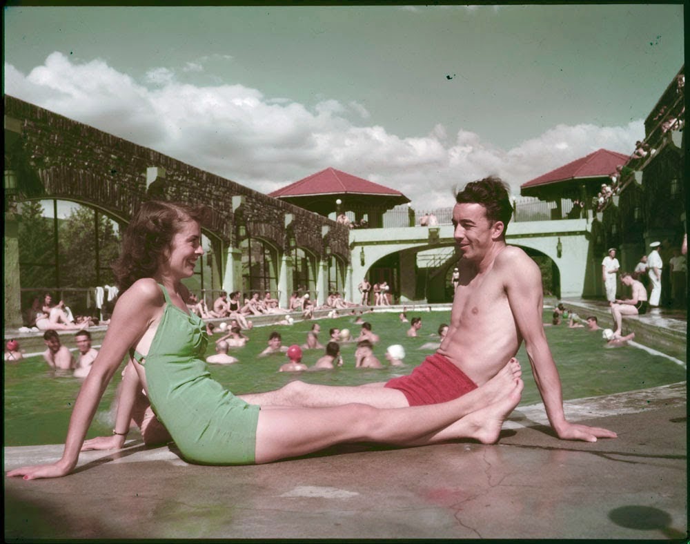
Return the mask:
<svg viewBox="0 0 690 544">
<path fill-rule="evenodd" d="M 268 193 L 328 166 L 417 209 L 631 153 L 683 8 L 5 8 L 4 91 Z"/>
</svg>

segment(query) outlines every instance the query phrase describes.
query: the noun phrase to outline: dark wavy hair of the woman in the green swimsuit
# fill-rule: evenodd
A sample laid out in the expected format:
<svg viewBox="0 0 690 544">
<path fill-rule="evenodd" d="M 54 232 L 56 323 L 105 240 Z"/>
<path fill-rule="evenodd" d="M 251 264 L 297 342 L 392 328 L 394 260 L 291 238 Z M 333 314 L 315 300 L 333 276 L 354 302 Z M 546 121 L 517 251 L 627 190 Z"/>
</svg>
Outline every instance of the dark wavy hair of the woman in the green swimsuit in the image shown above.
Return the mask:
<svg viewBox="0 0 690 544">
<path fill-rule="evenodd" d="M 112 264 L 119 291 L 126 291 L 141 278 L 155 275 L 182 224 L 189 221 L 201 224 L 205 215 L 204 208 L 177 202 L 150 200 L 141 204 L 124 233 L 120 255 Z"/>
</svg>

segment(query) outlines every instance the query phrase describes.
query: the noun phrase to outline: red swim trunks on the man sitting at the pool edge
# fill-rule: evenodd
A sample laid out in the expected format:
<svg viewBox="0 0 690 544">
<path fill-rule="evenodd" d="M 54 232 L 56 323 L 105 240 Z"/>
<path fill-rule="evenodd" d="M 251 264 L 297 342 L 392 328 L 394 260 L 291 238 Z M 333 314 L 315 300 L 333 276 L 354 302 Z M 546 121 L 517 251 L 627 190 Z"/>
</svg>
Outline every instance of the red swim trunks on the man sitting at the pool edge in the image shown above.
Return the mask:
<svg viewBox="0 0 690 544">
<path fill-rule="evenodd" d="M 409 376 L 388 380 L 384 387 L 402 391 L 410 406 L 424 406 L 448 402 L 478 386 L 452 362 L 434 353 Z"/>
</svg>

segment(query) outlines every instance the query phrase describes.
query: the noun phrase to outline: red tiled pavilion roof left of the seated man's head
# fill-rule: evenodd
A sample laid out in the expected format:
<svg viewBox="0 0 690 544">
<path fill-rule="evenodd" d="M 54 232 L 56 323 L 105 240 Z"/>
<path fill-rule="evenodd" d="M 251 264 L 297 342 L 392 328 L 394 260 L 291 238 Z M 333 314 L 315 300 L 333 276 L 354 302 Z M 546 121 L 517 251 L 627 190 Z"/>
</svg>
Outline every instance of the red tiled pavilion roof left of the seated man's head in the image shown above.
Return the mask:
<svg viewBox="0 0 690 544">
<path fill-rule="evenodd" d="M 308 195 L 339 195 L 343 193 L 404 197 L 400 191 L 395 191 L 395 189 L 384 187 L 335 168 L 326 168 L 326 170 L 309 175 L 298 182 L 269 193 L 269 196 L 280 198 Z"/>
</svg>

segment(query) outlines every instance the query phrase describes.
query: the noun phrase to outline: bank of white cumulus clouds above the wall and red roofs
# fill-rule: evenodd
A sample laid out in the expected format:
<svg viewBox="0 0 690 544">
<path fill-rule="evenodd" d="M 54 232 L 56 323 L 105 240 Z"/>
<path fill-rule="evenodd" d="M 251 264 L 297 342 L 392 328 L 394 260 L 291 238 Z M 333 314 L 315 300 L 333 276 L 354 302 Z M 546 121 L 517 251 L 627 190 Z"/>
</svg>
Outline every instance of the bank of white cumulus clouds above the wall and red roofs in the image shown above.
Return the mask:
<svg viewBox="0 0 690 544">
<path fill-rule="evenodd" d="M 203 62 L 186 68 L 193 65 Z M 452 186 L 489 174 L 517 195 L 520 184 L 599 148 L 631 153 L 644 136 L 638 120 L 557 125 L 508 150 L 466 130 L 449 134 L 440 122 L 425 135 L 400 137 L 367 126 L 366 108 L 337 97 L 310 107 L 240 84 L 182 84 L 164 67 L 136 81 L 101 59 L 77 63 L 59 52 L 27 75 L 5 64 L 5 87 L 8 95 L 262 192 L 333 166 L 396 188 L 417 208 L 450 206 Z"/>
</svg>

